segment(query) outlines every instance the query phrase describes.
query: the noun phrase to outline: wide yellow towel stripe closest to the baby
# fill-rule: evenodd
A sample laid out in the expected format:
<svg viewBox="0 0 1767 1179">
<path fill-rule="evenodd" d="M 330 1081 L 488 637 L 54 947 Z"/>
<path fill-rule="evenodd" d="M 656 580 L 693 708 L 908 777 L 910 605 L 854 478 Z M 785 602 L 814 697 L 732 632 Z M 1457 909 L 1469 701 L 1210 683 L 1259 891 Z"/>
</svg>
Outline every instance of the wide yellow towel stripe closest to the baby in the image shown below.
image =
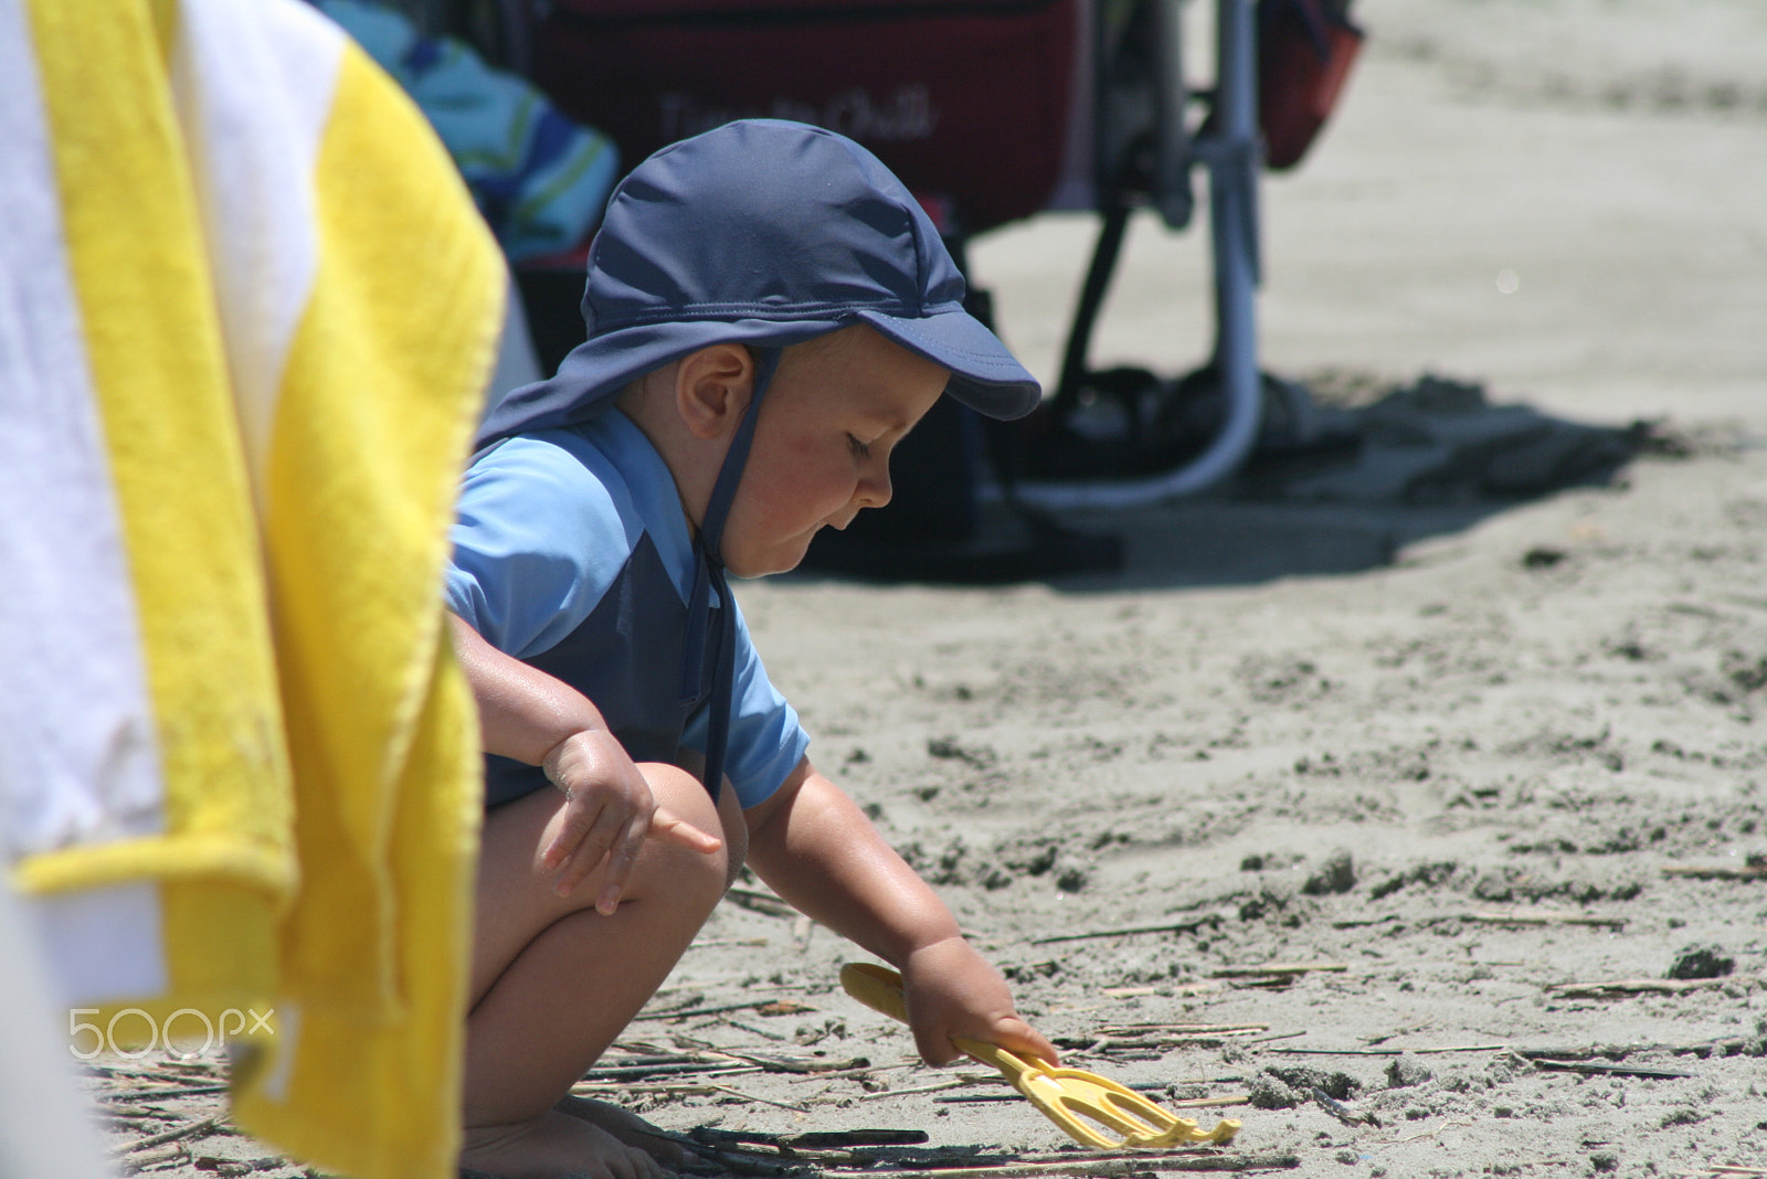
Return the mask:
<svg viewBox="0 0 1767 1179">
<path fill-rule="evenodd" d="M 295 1153 L 323 1140 L 350 1174 L 442 1175 L 481 766 L 438 593 L 504 270 L 422 116 L 355 46 L 316 185 L 320 270 L 270 431 L 265 512 L 297 842 L 325 858 L 284 930 L 286 983 L 325 1003 L 300 1008 L 286 1101 L 246 1091 L 235 1108 Z M 339 923 L 345 909 L 355 920 Z M 387 1034 L 364 1040 L 376 1020 Z M 325 1068 L 337 1059 L 355 1066 Z M 339 1119 L 378 1133 L 345 1142 Z"/>
</svg>

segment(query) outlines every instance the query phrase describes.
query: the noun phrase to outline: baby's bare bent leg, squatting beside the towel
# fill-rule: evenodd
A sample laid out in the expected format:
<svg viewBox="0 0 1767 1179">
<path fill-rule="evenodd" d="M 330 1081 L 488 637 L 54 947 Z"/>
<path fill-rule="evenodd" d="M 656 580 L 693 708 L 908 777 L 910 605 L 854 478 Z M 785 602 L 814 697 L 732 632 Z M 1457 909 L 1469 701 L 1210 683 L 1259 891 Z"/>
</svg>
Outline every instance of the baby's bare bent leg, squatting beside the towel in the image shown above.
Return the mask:
<svg viewBox="0 0 1767 1179">
<path fill-rule="evenodd" d="M 551 874 L 537 868 L 541 833 L 562 796 L 541 791 L 486 815 L 466 1018 L 466 1167 L 516 1177 L 664 1174 L 645 1151 L 555 1108 L 668 978 L 746 845 L 728 787 L 714 808 L 687 773 L 641 770 L 663 807 L 721 833 L 724 849 L 707 856 L 648 840 L 613 916 L 594 909 L 599 870 L 560 898 Z"/>
</svg>

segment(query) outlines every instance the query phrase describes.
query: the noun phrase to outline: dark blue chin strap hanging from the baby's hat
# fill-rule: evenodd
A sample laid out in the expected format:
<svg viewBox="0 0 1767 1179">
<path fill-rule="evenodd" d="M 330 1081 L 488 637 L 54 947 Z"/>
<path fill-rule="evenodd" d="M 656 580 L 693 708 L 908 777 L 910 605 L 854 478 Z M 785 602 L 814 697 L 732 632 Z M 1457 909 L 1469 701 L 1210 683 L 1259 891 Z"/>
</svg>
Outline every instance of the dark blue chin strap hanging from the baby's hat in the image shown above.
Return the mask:
<svg viewBox="0 0 1767 1179">
<path fill-rule="evenodd" d="M 749 461 L 749 447 L 755 441 L 755 422 L 760 417 L 762 397 L 779 369 L 779 348 L 756 348 L 758 364 L 755 367 L 755 395 L 749 397 L 737 432 L 730 438 L 730 450 L 724 452 L 724 464 L 712 484 L 712 496 L 705 503 L 705 515 L 700 521 L 700 537 L 694 540 L 693 591 L 687 595 L 687 642 L 682 650 L 680 697 L 682 702 L 700 699 L 705 687 L 705 646 L 712 628 L 712 591 L 717 591 L 717 658 L 712 664 L 712 713 L 705 743 L 705 789 L 717 798 L 724 784 L 724 752 L 730 745 L 730 706 L 735 694 L 735 657 L 737 657 L 737 611 L 730 597 L 730 582 L 724 579 L 724 522 L 730 519 L 730 505 L 735 503 L 737 485 L 742 482 L 742 468 Z"/>
</svg>

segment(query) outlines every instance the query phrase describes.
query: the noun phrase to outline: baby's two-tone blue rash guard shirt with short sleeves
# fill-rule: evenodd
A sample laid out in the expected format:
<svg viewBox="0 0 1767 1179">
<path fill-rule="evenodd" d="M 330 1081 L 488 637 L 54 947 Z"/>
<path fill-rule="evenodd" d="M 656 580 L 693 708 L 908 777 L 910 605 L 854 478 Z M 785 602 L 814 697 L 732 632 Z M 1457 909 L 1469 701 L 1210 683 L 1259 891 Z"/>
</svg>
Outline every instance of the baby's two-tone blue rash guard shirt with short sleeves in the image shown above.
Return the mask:
<svg viewBox="0 0 1767 1179">
<path fill-rule="evenodd" d="M 498 651 L 587 695 L 633 761 L 705 750 L 712 676 L 682 694 L 693 574 L 675 480 L 618 409 L 511 438 L 466 471 L 449 609 Z M 724 773 L 747 808 L 779 789 L 809 738 L 767 680 L 735 600 L 714 605 L 735 611 Z M 486 755 L 486 807 L 546 784 L 537 766 Z"/>
</svg>

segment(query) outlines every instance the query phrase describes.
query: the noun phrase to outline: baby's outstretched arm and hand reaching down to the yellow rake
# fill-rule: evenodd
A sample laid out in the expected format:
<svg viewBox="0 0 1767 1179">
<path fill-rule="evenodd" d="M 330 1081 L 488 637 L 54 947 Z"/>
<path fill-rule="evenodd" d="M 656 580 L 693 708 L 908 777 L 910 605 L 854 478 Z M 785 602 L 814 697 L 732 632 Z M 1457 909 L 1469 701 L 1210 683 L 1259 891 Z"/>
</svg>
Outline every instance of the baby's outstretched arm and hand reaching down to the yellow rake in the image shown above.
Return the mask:
<svg viewBox="0 0 1767 1179">
<path fill-rule="evenodd" d="M 928 1064 L 961 1055 L 952 1036 L 1055 1061 L 1055 1047 L 1020 1018 L 1005 980 L 963 939 L 945 904 L 809 761 L 747 819 L 749 863 L 763 881 L 901 971 Z"/>
</svg>

